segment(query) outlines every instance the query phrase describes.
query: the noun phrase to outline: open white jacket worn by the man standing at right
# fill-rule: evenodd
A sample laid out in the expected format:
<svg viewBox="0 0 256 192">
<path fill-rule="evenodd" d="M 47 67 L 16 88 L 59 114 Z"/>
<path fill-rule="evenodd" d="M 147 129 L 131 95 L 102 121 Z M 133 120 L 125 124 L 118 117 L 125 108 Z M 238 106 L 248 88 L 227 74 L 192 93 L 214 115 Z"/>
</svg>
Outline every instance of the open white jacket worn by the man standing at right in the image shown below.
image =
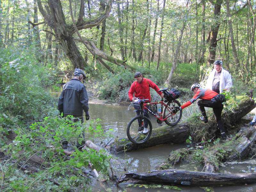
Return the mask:
<svg viewBox="0 0 256 192">
<path fill-rule="evenodd" d="M 214 79 L 215 69 L 213 69 L 207 79 L 206 88 L 212 90 L 212 82 Z M 221 67 L 221 73 L 220 73 L 220 93 L 223 92 L 225 89 L 228 90 L 230 87 L 232 87 L 232 79 L 230 74 L 227 70 L 223 69 Z"/>
</svg>

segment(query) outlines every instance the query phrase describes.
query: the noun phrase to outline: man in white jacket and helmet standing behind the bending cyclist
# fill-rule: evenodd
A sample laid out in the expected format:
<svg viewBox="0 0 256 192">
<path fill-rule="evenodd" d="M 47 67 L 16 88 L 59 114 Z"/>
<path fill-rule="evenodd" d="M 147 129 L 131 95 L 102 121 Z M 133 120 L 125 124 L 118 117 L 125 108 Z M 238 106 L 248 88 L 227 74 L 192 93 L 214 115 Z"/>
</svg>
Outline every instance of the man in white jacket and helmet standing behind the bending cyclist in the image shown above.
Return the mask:
<svg viewBox="0 0 256 192">
<path fill-rule="evenodd" d="M 229 90 L 232 87 L 232 79 L 229 72 L 221 67 L 222 61 L 216 60 L 213 65 L 214 69 L 208 76 L 206 88 L 217 93 Z"/>
</svg>

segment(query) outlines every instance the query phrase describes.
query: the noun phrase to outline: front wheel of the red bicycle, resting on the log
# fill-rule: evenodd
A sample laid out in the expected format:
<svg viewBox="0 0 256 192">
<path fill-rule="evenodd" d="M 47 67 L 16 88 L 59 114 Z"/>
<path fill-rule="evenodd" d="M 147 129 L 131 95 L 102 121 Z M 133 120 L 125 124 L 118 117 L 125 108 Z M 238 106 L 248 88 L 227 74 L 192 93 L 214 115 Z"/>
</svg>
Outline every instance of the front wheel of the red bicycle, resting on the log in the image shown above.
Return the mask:
<svg viewBox="0 0 256 192">
<path fill-rule="evenodd" d="M 148 123 L 148 132 L 147 133 L 139 133 L 146 130 L 144 129 L 144 125 Z M 130 141 L 132 141 L 135 144 L 142 144 L 145 143 L 150 135 L 152 133 L 152 124 L 148 117 L 143 117 L 141 115 L 138 115 L 136 117 L 133 117 L 131 121 L 127 125 L 126 134 Z"/>
</svg>

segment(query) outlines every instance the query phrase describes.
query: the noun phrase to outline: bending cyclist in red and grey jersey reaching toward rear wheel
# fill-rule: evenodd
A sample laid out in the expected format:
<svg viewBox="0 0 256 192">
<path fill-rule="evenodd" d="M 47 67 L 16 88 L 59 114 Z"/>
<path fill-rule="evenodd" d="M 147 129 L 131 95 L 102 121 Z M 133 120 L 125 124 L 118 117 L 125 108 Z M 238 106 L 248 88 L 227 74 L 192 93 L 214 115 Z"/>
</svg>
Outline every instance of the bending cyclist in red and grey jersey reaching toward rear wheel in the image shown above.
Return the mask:
<svg viewBox="0 0 256 192">
<path fill-rule="evenodd" d="M 193 96 L 193 98 L 191 100 L 189 100 L 186 103 L 184 103 L 183 105 L 181 105 L 180 109 L 184 109 L 184 108 L 188 107 L 189 105 L 191 105 L 193 102 L 195 102 L 197 99 L 201 99 L 201 100 L 197 101 L 197 105 L 203 115 L 203 117 L 200 117 L 200 119 L 202 121 L 204 121 L 204 123 L 207 123 L 208 118 L 206 116 L 204 107 L 212 108 L 215 119 L 218 124 L 218 127 L 220 129 L 221 137 L 223 139 L 226 139 L 227 135 L 225 133 L 223 121 L 221 119 L 221 112 L 223 109 L 223 105 L 222 105 L 221 101 L 218 99 L 218 97 L 224 97 L 224 96 L 220 95 L 210 89 L 200 88 L 199 83 L 193 84 L 190 89 L 191 89 L 191 91 L 193 91 L 195 93 L 195 95 Z"/>
</svg>

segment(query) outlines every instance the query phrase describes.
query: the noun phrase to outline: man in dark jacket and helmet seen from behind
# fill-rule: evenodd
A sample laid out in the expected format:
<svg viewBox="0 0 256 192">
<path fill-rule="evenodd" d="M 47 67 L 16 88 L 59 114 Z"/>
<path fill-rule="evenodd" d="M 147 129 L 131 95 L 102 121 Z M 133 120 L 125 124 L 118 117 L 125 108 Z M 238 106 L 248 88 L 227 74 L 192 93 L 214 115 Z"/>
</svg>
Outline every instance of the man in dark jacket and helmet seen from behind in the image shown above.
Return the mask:
<svg viewBox="0 0 256 192">
<path fill-rule="evenodd" d="M 89 107 L 88 107 L 88 95 L 84 84 L 85 74 L 81 69 L 75 69 L 74 78 L 68 83 L 63 85 L 63 90 L 60 94 L 58 109 L 60 115 L 63 112 L 64 116 L 72 115 L 76 117 L 75 122 L 81 120 L 84 123 L 83 110 L 85 112 L 85 119 L 89 120 Z M 77 143 L 77 148 L 81 149 L 84 145 Z M 63 141 L 62 148 L 67 148 L 68 141 Z"/>
</svg>

